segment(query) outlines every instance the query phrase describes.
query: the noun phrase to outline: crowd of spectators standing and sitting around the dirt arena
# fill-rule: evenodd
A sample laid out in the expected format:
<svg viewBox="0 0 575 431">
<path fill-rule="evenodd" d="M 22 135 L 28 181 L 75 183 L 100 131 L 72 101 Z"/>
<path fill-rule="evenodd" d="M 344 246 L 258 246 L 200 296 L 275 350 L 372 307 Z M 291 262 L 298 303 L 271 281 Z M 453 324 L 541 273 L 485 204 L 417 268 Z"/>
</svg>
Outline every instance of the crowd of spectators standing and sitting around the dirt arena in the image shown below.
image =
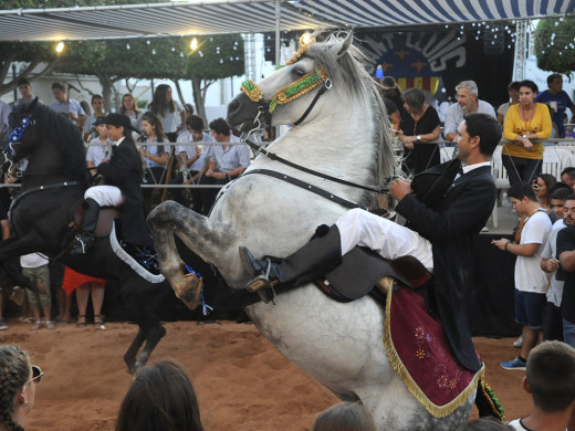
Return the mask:
<svg viewBox="0 0 575 431">
<path fill-rule="evenodd" d="M 479 98 L 473 81 L 456 86 L 457 103 L 446 112 L 441 124 L 429 94 L 419 88 L 401 92 L 393 77 L 380 81 L 393 134 L 401 153 L 401 169 L 415 176 L 440 164 L 440 150 L 459 136 L 463 118 L 483 113 L 502 125 L 502 162 L 510 188 L 506 196 L 518 213 L 514 238 L 494 240 L 493 245 L 516 256 L 514 267 L 515 322 L 522 335 L 515 341 L 516 358 L 503 361 L 508 370 L 525 370 L 523 387 L 533 397 L 533 410 L 526 418 L 511 421 L 506 429 L 537 430 L 573 428 L 575 413 L 575 167 L 566 167 L 561 178 L 542 174 L 546 139 L 575 137 L 566 125 L 566 111 L 575 105 L 562 90 L 563 76 L 552 74 L 548 88 L 541 92 L 532 81 L 510 83 L 509 102 L 496 109 Z M 34 96 L 28 78 L 18 87 L 22 102 Z M 90 106 L 70 98 L 63 83 L 52 85 L 50 107 L 64 115 L 82 132 L 86 144 L 86 168 L 96 178 L 98 166 L 112 157 L 115 140 L 107 125 L 109 115 L 101 95 Z M 2 124 L 8 111 L 0 106 Z M 159 85 L 153 102 L 140 111 L 132 94 L 122 97 L 118 113 L 132 125 L 139 162 L 146 211 L 166 196 L 166 185 L 201 186 L 167 188 L 169 198 L 208 214 L 221 186 L 232 181 L 250 165 L 250 149 L 240 143 L 223 118 L 206 120 L 195 115 L 189 104 L 174 99 L 168 85 Z M 25 161 L 2 179 L 18 183 Z M 10 235 L 9 206 L 18 191 L 0 189 L 2 239 Z M 165 192 L 166 193 L 166 192 Z M 72 320 L 72 293 L 77 304 L 77 326 L 87 325 L 88 296 L 92 298 L 95 327 L 105 329 L 102 305 L 105 281 L 73 274 L 45 256 L 33 253 L 20 257 L 20 274 L 0 274 L 0 330 L 8 329 L 2 318 L 3 302 L 10 297 L 20 307 L 21 319 L 32 330 L 56 329 Z M 25 292 L 25 295 L 24 295 Z M 56 304 L 52 298 L 56 298 Z M 56 305 L 56 306 L 54 306 Z M 58 312 L 54 312 L 58 308 Z M 0 347 L 0 386 L 4 388 L 0 406 L 0 428 L 23 429 L 25 414 L 33 406 L 35 386 L 43 374 L 31 365 L 28 354 L 17 346 Z M 469 429 L 482 428 L 482 422 Z M 119 408 L 116 430 L 202 430 L 198 400 L 187 371 L 170 360 L 144 367 L 136 376 Z M 375 430 L 370 413 L 357 402 L 334 406 L 322 412 L 313 430 Z M 548 428 L 550 430 L 552 428 Z"/>
</svg>

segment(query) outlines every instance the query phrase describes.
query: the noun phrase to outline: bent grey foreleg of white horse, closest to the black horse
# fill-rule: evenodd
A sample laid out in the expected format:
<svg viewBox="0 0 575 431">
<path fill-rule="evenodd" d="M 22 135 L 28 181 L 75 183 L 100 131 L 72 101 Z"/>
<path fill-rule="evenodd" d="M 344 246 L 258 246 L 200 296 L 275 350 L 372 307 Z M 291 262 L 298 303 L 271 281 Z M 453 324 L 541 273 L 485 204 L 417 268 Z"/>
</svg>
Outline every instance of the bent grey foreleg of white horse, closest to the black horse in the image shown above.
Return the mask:
<svg viewBox="0 0 575 431">
<path fill-rule="evenodd" d="M 221 262 L 238 261 L 236 234 L 224 223 L 208 219 L 172 201 L 154 209 L 147 219 L 158 253 L 161 273 L 168 278 L 176 296 L 188 307 L 195 308 L 200 288 L 195 275 L 187 274 L 186 264 L 178 254 L 174 235 L 205 262 L 218 266 Z"/>
</svg>

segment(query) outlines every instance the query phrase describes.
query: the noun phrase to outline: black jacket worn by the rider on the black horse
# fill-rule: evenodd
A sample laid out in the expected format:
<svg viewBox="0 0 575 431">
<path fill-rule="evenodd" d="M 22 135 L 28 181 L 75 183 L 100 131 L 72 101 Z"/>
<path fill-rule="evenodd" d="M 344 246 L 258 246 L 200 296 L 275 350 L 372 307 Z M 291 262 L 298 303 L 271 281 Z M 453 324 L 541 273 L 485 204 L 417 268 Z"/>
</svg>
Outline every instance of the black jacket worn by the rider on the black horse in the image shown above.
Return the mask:
<svg viewBox="0 0 575 431">
<path fill-rule="evenodd" d="M 124 195 L 122 233 L 124 240 L 135 245 L 151 246 L 154 242 L 148 233 L 142 196 L 142 160 L 136 145 L 125 138 L 113 148 L 109 161 L 97 167 L 97 172 L 105 178 L 105 183 L 116 186 Z"/>
</svg>

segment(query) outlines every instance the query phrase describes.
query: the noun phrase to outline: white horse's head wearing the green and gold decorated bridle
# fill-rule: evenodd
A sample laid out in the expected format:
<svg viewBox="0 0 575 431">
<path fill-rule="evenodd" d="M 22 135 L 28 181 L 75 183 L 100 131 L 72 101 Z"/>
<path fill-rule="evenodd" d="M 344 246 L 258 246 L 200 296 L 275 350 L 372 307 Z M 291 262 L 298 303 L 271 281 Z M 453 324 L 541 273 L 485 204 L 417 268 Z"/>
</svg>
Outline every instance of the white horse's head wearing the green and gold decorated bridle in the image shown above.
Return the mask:
<svg viewBox="0 0 575 431">
<path fill-rule="evenodd" d="M 269 122 L 270 116 L 272 126 L 299 124 L 306 111 L 307 114 L 312 111 L 320 112 L 322 105 L 331 103 L 328 90 L 332 85 L 334 88 L 339 85 L 335 91 L 338 95 L 343 93 L 344 81 L 345 88 L 360 87 L 354 81 L 365 77 L 366 72 L 364 70 L 363 73 L 356 73 L 356 62 L 351 61 L 352 56 L 362 56 L 352 45 L 351 32 L 343 38 L 334 34 L 323 42 L 314 39 L 312 41 L 301 44 L 294 57 L 271 76 L 258 84 L 251 81 L 242 84 L 242 93 L 228 106 L 230 126 L 242 125 L 245 132 L 253 127 L 255 118 L 261 120 L 265 117 Z M 317 96 L 324 93 L 325 96 Z M 347 90 L 344 93 L 351 94 Z"/>
</svg>

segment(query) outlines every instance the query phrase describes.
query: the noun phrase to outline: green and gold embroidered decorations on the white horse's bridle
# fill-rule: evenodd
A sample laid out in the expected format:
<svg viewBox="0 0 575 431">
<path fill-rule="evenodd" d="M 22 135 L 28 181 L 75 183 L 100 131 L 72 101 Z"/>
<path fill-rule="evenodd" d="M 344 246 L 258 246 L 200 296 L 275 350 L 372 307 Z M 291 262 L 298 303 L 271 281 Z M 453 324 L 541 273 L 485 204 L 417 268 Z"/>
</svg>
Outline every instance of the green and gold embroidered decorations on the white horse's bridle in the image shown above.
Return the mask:
<svg viewBox="0 0 575 431">
<path fill-rule="evenodd" d="M 300 60 L 305 50 L 307 50 L 310 46 L 310 43 L 301 44 L 297 52 L 288 63 L 285 63 L 285 65 L 291 65 Z M 305 93 L 311 92 L 317 85 L 324 83 L 327 78 L 328 76 L 325 69 L 320 67 L 316 72 L 310 72 L 297 81 L 278 90 L 275 95 L 269 102 L 266 102 L 269 104 L 270 114 L 273 113 L 278 105 L 285 105 L 286 103 L 303 96 Z M 243 93 L 245 93 L 250 101 L 254 103 L 258 103 L 263 98 L 261 88 L 251 80 L 244 81 L 241 85 L 241 90 Z"/>
</svg>

